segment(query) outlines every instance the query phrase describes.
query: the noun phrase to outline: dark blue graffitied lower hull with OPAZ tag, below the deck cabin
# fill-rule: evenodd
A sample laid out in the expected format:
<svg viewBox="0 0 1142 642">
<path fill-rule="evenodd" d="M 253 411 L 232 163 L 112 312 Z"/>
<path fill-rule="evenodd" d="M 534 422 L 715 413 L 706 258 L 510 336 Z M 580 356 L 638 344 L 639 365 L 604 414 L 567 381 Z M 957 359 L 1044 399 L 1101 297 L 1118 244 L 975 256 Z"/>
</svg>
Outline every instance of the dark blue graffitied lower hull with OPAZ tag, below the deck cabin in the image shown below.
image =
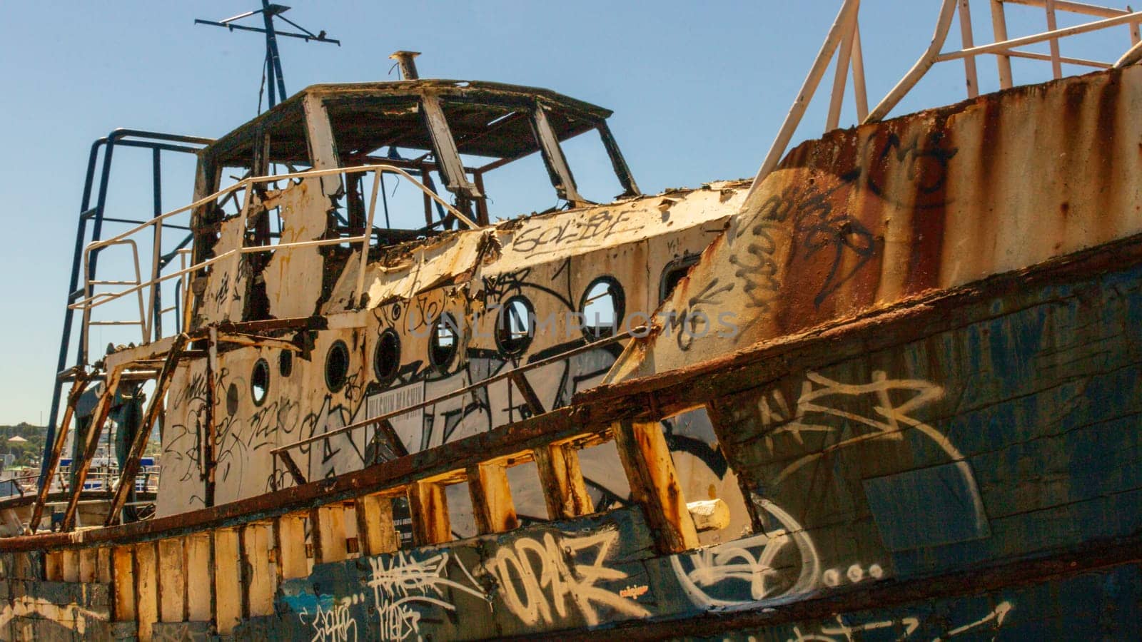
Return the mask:
<svg viewBox="0 0 1142 642">
<path fill-rule="evenodd" d="M 3 633 L 129 637 L 150 625 L 154 639 L 206 636 L 230 581 L 242 616 L 232 633 L 252 639 L 626 625 L 637 627 L 625 636 L 1136 639 L 1140 289 L 1142 239 L 1132 238 L 584 400 L 593 420 L 621 420 L 648 394 L 711 404 L 731 464 L 765 488 L 750 497 L 765 524 L 757 535 L 664 555 L 661 533 L 632 506 L 276 579 L 289 551 L 284 540 L 275 557 L 265 548 L 275 514 L 582 432 L 554 414 L 179 521 L 51 536 L 49 546 L 13 540 L 0 555 Z M 775 412 L 803 419 L 759 430 Z M 794 428 L 839 446 L 801 444 Z M 782 478 L 802 462 L 821 471 L 817 485 Z M 371 545 L 362 538 L 362 551 Z M 124 564 L 151 575 L 124 577 Z M 126 608 L 134 617 L 113 621 Z"/>
</svg>

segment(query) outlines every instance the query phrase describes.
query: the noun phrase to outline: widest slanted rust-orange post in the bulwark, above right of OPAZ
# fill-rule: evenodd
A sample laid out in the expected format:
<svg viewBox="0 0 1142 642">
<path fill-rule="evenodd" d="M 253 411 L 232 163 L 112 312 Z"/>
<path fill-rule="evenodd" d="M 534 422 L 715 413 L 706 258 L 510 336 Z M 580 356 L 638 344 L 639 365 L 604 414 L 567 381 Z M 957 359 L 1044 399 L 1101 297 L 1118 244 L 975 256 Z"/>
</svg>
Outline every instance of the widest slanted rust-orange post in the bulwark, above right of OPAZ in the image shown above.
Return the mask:
<svg viewBox="0 0 1142 642">
<path fill-rule="evenodd" d="M 686 509 L 670 449 L 658 422 L 617 422 L 611 426 L 630 493 L 646 511 L 646 521 L 659 532 L 664 553 L 697 548 L 698 530 Z"/>
</svg>

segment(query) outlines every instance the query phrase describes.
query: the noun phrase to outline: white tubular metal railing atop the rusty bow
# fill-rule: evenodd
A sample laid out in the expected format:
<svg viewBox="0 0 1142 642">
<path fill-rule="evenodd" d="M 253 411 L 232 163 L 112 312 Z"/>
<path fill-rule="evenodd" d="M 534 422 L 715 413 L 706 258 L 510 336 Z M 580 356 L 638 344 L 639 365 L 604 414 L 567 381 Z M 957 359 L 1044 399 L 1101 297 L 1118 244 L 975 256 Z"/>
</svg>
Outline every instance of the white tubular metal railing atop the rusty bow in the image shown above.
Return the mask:
<svg viewBox="0 0 1142 642">
<path fill-rule="evenodd" d="M 833 23 L 820 53 L 817 55 L 813 66 L 810 69 L 805 82 L 802 85 L 797 98 L 789 109 L 777 139 L 770 147 L 765 160 L 762 162 L 754 183 L 749 187 L 751 195 L 761 185 L 762 180 L 777 168 L 785 155 L 786 149 L 793 138 L 797 126 L 801 125 L 805 110 L 813 98 L 818 86 L 825 75 L 829 63 L 837 57 L 836 74 L 833 81 L 833 95 L 829 103 L 829 112 L 826 120 L 826 131 L 836 129 L 841 118 L 841 106 L 844 101 L 845 83 L 847 82 L 850 67 L 852 67 L 853 94 L 855 97 L 856 119 L 862 123 L 876 122 L 892 111 L 896 104 L 916 86 L 916 83 L 927 73 L 927 70 L 935 63 L 948 61 L 964 61 L 964 77 L 967 87 L 967 97 L 979 96 L 979 79 L 975 69 L 976 56 L 996 56 L 999 71 L 999 88 L 1010 89 L 1012 85 L 1011 58 L 1028 58 L 1036 61 L 1048 61 L 1052 65 L 1054 78 L 1062 78 L 1062 65 L 1073 64 L 1096 69 L 1124 67 L 1137 63 L 1142 59 L 1142 38 L 1139 34 L 1139 24 L 1142 24 L 1142 11 L 1127 9 L 1113 9 L 1109 7 L 1097 7 L 1083 2 L 1070 2 L 1065 0 L 987 0 L 991 7 L 991 26 L 995 34 L 995 42 L 988 45 L 975 45 L 972 17 L 971 0 L 942 0 L 940 15 L 936 19 L 935 32 L 932 42 L 904 77 L 892 88 L 891 91 L 871 111 L 868 109 L 868 95 L 864 86 L 864 62 L 860 43 L 860 26 L 858 14 L 860 13 L 860 0 L 844 0 L 837 19 Z M 1047 31 L 1020 38 L 1007 37 L 1007 18 L 1004 5 L 1026 5 L 1043 8 L 1046 13 Z M 1059 29 L 1056 14 L 1065 11 L 1085 16 L 1093 16 L 1101 19 Z M 955 51 L 941 53 L 951 29 L 952 17 L 959 15 L 959 30 L 962 48 Z M 1060 54 L 1059 41 L 1069 35 L 1099 31 L 1112 26 L 1127 25 L 1129 30 L 1129 49 L 1113 63 L 1088 61 L 1083 58 L 1064 57 Z M 1019 49 L 1027 45 L 1048 42 L 1051 54 L 1039 54 Z M 749 202 L 749 195 L 746 198 Z"/>
</svg>

